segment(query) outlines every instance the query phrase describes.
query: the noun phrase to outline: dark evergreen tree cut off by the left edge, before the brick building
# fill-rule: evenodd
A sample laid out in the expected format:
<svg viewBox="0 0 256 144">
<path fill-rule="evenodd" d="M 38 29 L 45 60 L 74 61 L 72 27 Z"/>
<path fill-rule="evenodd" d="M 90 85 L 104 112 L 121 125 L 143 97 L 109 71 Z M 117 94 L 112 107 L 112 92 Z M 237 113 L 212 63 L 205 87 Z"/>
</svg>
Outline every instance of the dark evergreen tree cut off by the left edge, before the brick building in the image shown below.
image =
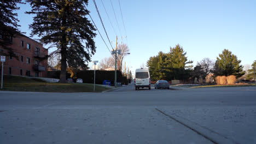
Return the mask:
<svg viewBox="0 0 256 144">
<path fill-rule="evenodd" d="M 0 55 L 14 55 L 11 45 L 11 40 L 14 34 L 20 33 L 18 27 L 18 14 L 14 13 L 15 10 L 20 8 L 17 6 L 18 3 L 22 3 L 21 0 L 0 0 L 0 47 L 7 50 L 7 53 L 0 51 Z"/>
</svg>

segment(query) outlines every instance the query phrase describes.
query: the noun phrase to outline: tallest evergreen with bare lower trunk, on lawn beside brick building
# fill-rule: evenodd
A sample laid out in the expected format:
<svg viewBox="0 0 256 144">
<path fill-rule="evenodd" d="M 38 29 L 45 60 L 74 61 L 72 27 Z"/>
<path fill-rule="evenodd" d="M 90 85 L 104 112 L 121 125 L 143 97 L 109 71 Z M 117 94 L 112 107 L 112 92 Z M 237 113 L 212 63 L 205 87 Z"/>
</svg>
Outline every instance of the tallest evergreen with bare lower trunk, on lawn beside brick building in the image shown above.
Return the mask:
<svg viewBox="0 0 256 144">
<path fill-rule="evenodd" d="M 57 50 L 51 53 L 61 55 L 60 82 L 66 82 L 67 64 L 69 68 L 85 69 L 85 62 L 96 51 L 95 27 L 85 17 L 88 0 L 26 0 L 32 6 L 27 14 L 34 14 L 30 25 L 31 35 L 38 35 L 43 44 L 51 44 Z M 85 46 L 83 45 L 85 44 Z M 86 50 L 86 51 L 85 51 Z"/>
</svg>

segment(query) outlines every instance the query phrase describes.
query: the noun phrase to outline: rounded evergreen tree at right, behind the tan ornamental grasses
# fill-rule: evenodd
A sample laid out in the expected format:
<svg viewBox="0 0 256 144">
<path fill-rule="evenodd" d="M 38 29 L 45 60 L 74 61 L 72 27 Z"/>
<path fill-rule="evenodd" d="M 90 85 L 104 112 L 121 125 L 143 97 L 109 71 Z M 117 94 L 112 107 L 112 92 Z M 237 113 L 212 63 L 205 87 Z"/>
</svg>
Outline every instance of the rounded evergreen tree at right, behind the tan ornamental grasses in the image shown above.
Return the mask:
<svg viewBox="0 0 256 144">
<path fill-rule="evenodd" d="M 245 71 L 243 71 L 243 66 L 240 63 L 241 60 L 238 60 L 231 51 L 224 49 L 219 54 L 219 57 L 217 57 L 214 75 L 235 75 L 236 77 L 241 77 L 245 74 Z"/>
</svg>

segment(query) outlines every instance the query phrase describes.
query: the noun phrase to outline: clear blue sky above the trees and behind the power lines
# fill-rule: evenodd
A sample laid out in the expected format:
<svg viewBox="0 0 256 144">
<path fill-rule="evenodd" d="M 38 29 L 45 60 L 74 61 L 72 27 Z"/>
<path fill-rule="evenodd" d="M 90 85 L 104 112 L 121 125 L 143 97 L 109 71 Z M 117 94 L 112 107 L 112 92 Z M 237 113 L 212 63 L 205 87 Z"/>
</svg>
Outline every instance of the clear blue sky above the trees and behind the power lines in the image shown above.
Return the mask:
<svg viewBox="0 0 256 144">
<path fill-rule="evenodd" d="M 110 25 L 102 2 L 107 9 Z M 104 26 L 110 41 L 115 35 L 125 36 L 118 0 L 112 0 L 117 22 L 110 0 L 96 0 Z M 159 51 L 169 52 L 170 46 L 180 44 L 187 52 L 189 60 L 196 62 L 205 57 L 216 60 L 224 49 L 234 53 L 243 65 L 251 65 L 256 60 L 256 1 L 125 1 L 120 0 L 124 17 L 127 40 L 131 55 L 125 62 L 133 72 L 142 63 L 146 65 L 149 57 L 158 55 Z M 30 5 L 20 5 L 19 19 L 21 31 L 30 34 L 28 25 L 32 23 L 32 15 L 23 14 Z M 98 18 L 94 3 L 89 0 L 88 9 L 92 19 L 108 43 Z M 115 32 L 116 33 L 115 33 Z M 36 37 L 35 37 L 36 38 Z M 96 53 L 92 61 L 100 61 L 109 57 L 110 53 L 100 35 L 95 38 Z M 121 39 L 119 40 L 119 43 Z M 114 47 L 114 44 L 113 44 Z M 50 50 L 51 51 L 51 50 Z M 91 65 L 91 64 L 89 64 Z"/>
</svg>

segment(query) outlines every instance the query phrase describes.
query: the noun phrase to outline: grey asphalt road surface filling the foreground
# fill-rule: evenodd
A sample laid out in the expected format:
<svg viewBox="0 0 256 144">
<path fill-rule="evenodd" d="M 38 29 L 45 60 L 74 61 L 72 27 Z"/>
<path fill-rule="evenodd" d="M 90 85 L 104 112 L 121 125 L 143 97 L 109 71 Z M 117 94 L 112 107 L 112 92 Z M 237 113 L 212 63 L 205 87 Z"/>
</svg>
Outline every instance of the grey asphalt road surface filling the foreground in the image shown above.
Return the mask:
<svg viewBox="0 0 256 144">
<path fill-rule="evenodd" d="M 0 143 L 256 143 L 256 88 L 0 91 Z"/>
</svg>

